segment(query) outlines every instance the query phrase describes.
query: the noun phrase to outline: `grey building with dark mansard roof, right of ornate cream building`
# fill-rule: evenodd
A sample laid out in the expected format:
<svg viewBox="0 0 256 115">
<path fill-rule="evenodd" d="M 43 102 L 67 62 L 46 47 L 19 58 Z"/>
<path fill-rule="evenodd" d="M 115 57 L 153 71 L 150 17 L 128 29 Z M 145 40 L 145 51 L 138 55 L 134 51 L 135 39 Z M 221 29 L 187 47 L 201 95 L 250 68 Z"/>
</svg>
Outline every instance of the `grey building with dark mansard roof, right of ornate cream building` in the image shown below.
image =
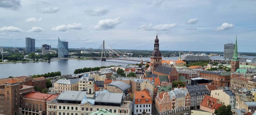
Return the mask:
<svg viewBox="0 0 256 115">
<path fill-rule="evenodd" d="M 210 93 L 205 85 L 186 85 L 185 89 L 190 95 L 190 109 L 200 109 L 200 104 L 205 95 Z"/>
</svg>

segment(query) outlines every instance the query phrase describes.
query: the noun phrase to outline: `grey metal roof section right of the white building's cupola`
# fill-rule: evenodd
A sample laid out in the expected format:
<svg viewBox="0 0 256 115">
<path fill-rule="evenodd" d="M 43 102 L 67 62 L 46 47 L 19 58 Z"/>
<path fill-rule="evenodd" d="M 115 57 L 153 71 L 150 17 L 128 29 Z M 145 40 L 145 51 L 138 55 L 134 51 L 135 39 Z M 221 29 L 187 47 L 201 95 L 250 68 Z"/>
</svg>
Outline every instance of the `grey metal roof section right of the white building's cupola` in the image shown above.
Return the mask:
<svg viewBox="0 0 256 115">
<path fill-rule="evenodd" d="M 111 103 L 121 103 L 123 98 L 122 93 L 105 93 L 100 92 L 95 98 L 95 102 L 111 102 Z"/>
</svg>

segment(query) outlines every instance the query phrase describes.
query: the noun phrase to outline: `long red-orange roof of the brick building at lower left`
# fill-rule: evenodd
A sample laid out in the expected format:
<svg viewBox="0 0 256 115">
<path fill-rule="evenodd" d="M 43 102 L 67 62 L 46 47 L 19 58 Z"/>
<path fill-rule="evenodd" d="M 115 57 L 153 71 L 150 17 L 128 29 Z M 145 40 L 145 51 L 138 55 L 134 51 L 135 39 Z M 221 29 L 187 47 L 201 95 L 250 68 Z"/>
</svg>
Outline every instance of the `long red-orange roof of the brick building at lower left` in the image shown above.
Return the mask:
<svg viewBox="0 0 256 115">
<path fill-rule="evenodd" d="M 47 100 L 50 101 L 54 98 L 56 98 L 58 94 L 44 94 L 37 91 L 32 91 L 26 95 L 24 95 L 24 98 L 31 98 L 31 99 L 40 99 L 40 100 Z"/>
</svg>

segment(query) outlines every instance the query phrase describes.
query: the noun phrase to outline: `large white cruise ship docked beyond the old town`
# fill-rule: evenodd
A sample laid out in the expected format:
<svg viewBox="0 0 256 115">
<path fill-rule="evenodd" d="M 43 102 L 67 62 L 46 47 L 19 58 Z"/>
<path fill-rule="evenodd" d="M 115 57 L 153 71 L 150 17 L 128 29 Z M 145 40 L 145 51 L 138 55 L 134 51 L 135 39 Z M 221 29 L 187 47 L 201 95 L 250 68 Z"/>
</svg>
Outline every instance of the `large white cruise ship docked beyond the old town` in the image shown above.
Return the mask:
<svg viewBox="0 0 256 115">
<path fill-rule="evenodd" d="M 200 61 L 200 60 L 209 60 L 209 56 L 205 53 L 201 54 L 193 54 L 191 51 L 189 53 L 185 53 L 180 56 L 181 60 L 187 60 L 187 61 Z"/>
</svg>

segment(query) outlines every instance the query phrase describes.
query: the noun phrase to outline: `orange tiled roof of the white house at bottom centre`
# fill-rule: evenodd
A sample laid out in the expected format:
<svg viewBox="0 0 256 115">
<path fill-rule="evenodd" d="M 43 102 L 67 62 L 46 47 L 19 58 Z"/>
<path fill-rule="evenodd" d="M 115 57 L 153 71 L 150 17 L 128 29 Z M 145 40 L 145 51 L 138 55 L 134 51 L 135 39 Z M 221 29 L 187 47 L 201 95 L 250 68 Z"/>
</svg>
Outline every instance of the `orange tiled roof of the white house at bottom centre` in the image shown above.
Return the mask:
<svg viewBox="0 0 256 115">
<path fill-rule="evenodd" d="M 143 91 L 134 91 L 134 99 L 135 102 L 134 104 L 152 104 L 151 97 L 147 93 L 148 91 L 143 90 Z M 146 99 L 148 102 L 146 102 Z M 140 102 L 138 102 L 140 100 Z"/>
</svg>

